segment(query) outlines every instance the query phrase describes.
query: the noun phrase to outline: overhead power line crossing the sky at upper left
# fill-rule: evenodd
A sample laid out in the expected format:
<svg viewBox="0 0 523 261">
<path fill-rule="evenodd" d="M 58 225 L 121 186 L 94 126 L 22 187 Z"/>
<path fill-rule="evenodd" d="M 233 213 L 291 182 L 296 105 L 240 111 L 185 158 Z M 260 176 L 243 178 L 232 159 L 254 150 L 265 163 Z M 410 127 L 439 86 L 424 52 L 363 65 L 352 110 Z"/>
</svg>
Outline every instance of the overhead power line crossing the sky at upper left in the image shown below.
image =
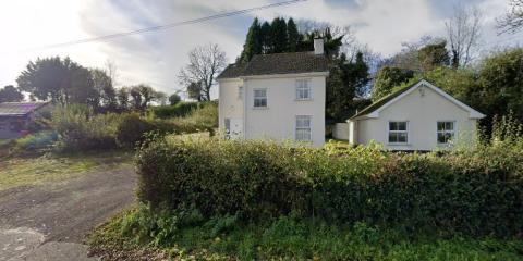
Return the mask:
<svg viewBox="0 0 523 261">
<path fill-rule="evenodd" d="M 183 26 L 183 25 L 197 24 L 197 23 L 203 23 L 203 22 L 207 22 L 207 21 L 211 21 L 211 20 L 218 20 L 218 18 L 223 18 L 223 17 L 233 16 L 233 15 L 251 13 L 251 12 L 254 12 L 254 11 L 260 11 L 260 10 L 271 9 L 271 8 L 277 8 L 277 7 L 290 5 L 290 4 L 294 4 L 294 3 L 299 3 L 299 2 L 305 2 L 305 1 L 307 1 L 307 0 L 291 0 L 291 1 L 271 3 L 271 4 L 266 4 L 266 5 L 256 7 L 256 8 L 250 8 L 250 9 L 243 9 L 243 10 L 233 11 L 233 12 L 215 14 L 215 15 L 205 16 L 205 17 L 195 18 L 195 20 L 187 20 L 187 21 L 175 22 L 175 23 L 165 24 L 165 25 L 158 25 L 158 26 L 136 29 L 136 30 L 130 30 L 130 32 L 110 34 L 110 35 L 98 36 L 98 37 L 93 37 L 93 38 L 85 38 L 85 39 L 80 39 L 80 40 L 54 44 L 54 45 L 44 46 L 44 47 L 40 47 L 40 48 L 37 48 L 37 49 L 50 49 L 50 48 L 58 48 L 58 47 L 66 47 L 66 46 L 74 46 L 74 45 L 81 45 L 81 44 L 93 42 L 93 41 L 106 41 L 106 40 L 110 40 L 110 39 L 114 39 L 114 38 L 119 38 L 119 37 L 138 35 L 138 34 L 143 34 L 143 33 L 147 33 L 147 32 L 154 32 L 154 30 L 169 29 L 169 28 L 172 28 L 172 27 L 178 27 L 178 26 Z"/>
</svg>

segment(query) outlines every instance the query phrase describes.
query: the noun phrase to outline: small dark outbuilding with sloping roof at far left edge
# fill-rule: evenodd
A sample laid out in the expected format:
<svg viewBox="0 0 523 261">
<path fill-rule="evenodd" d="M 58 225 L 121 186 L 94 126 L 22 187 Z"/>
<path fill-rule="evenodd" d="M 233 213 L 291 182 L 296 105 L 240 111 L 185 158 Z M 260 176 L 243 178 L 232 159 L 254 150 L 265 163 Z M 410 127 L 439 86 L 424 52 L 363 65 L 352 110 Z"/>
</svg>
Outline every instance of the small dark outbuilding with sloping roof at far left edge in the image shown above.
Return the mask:
<svg viewBox="0 0 523 261">
<path fill-rule="evenodd" d="M 47 102 L 0 103 L 0 139 L 15 139 L 29 132 L 31 123 Z"/>
</svg>

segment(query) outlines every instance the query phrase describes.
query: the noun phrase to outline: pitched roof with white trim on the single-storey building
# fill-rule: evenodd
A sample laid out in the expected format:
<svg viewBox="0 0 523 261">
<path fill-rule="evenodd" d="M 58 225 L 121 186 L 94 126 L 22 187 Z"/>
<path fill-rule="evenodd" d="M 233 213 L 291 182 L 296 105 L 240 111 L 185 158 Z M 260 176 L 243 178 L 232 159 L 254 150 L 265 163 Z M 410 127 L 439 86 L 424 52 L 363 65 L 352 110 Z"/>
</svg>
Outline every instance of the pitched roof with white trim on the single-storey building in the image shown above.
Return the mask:
<svg viewBox="0 0 523 261">
<path fill-rule="evenodd" d="M 445 92 L 443 90 L 441 90 L 440 88 L 436 87 L 435 85 L 430 84 L 429 82 L 425 80 L 425 79 L 421 79 L 412 85 L 409 85 L 409 86 L 405 86 L 401 89 L 398 89 L 397 91 L 379 99 L 378 101 L 374 102 L 373 104 L 368 105 L 367 108 L 363 109 L 361 112 L 356 113 L 354 116 L 352 116 L 350 120 L 354 120 L 354 119 L 357 119 L 357 117 L 362 117 L 362 116 L 365 116 L 365 115 L 368 115 L 373 112 L 376 112 L 376 111 L 379 111 L 379 110 L 382 110 L 385 109 L 387 105 L 391 104 L 392 102 L 394 102 L 396 100 L 398 99 L 401 99 L 404 95 L 409 94 L 410 91 L 413 91 L 414 89 L 421 87 L 421 86 L 426 86 L 433 90 L 435 90 L 436 92 L 438 92 L 439 95 L 441 95 L 443 98 L 450 100 L 451 102 L 453 102 L 454 104 L 457 104 L 458 107 L 461 107 L 463 110 L 467 111 L 470 113 L 470 116 L 472 119 L 482 119 L 484 117 L 485 115 L 482 114 L 481 112 L 472 109 L 471 107 L 466 105 L 465 103 L 457 100 L 455 98 L 453 98 L 452 96 L 450 96 L 449 94 Z"/>
</svg>

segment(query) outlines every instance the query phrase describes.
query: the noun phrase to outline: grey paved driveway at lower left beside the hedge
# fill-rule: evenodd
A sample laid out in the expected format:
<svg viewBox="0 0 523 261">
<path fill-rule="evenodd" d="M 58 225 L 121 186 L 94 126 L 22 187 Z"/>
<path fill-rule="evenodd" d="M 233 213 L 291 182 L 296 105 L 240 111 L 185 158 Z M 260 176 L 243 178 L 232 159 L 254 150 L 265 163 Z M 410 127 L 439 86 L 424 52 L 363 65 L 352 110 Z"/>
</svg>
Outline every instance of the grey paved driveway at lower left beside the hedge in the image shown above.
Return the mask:
<svg viewBox="0 0 523 261">
<path fill-rule="evenodd" d="M 96 225 L 134 201 L 131 166 L 61 184 L 0 191 L 0 261 L 97 260 L 82 245 Z"/>
</svg>

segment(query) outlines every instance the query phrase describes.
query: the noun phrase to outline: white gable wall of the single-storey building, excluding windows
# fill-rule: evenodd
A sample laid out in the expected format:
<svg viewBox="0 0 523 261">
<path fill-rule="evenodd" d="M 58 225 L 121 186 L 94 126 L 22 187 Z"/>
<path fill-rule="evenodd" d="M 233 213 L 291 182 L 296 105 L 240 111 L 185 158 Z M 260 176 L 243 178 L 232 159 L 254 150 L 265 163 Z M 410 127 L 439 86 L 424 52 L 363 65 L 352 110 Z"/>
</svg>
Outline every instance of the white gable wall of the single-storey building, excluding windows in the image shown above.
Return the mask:
<svg viewBox="0 0 523 261">
<path fill-rule="evenodd" d="M 356 144 L 368 144 L 375 140 L 390 150 L 437 150 L 445 148 L 437 142 L 437 122 L 454 121 L 455 142 L 471 145 L 475 138 L 476 120 L 470 119 L 467 111 L 433 89 L 424 88 L 424 90 L 423 97 L 418 90 L 415 90 L 390 104 L 379 112 L 377 119 L 356 121 L 355 133 L 351 136 Z M 409 122 L 408 145 L 388 144 L 389 121 Z"/>
</svg>

